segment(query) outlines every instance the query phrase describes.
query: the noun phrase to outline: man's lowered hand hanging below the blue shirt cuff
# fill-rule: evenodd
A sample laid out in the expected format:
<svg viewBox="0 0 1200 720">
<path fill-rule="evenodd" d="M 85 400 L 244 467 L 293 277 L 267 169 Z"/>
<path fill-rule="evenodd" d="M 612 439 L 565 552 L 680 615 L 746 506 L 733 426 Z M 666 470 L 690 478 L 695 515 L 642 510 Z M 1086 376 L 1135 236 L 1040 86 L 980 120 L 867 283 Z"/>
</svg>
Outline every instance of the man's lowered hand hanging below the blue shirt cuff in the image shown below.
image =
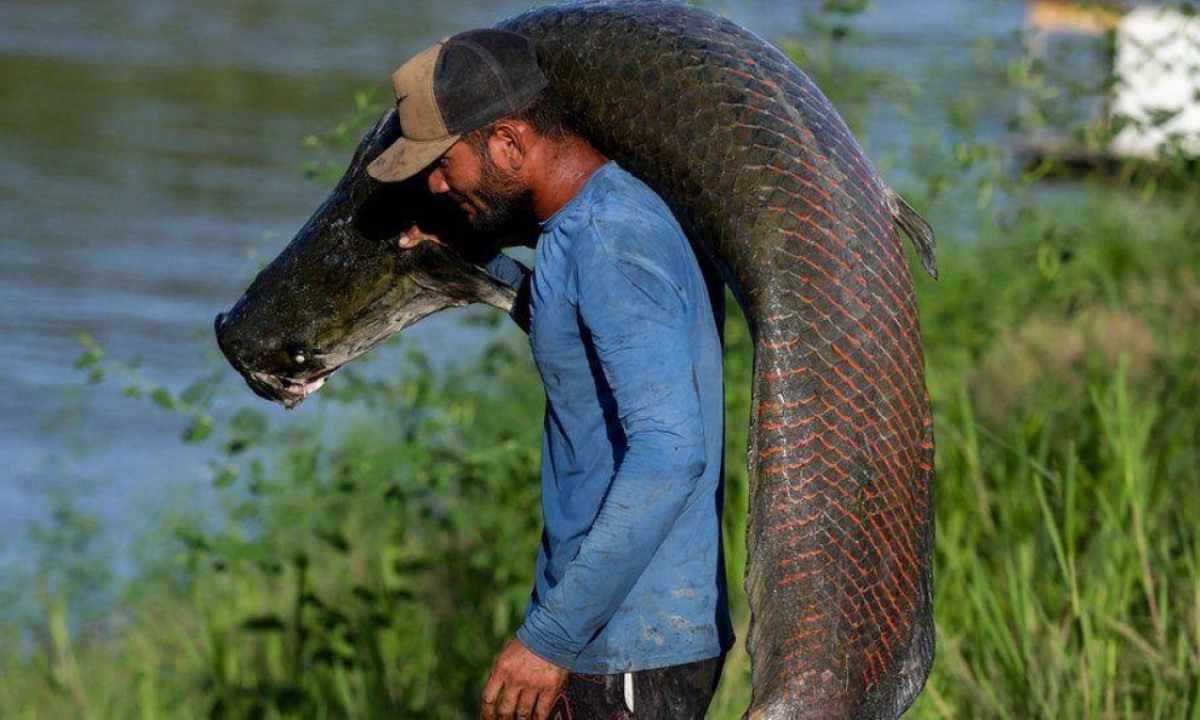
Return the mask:
<svg viewBox="0 0 1200 720">
<path fill-rule="evenodd" d="M 484 720 L 546 720 L 569 671 L 542 660 L 512 638 L 484 685 Z"/>
</svg>

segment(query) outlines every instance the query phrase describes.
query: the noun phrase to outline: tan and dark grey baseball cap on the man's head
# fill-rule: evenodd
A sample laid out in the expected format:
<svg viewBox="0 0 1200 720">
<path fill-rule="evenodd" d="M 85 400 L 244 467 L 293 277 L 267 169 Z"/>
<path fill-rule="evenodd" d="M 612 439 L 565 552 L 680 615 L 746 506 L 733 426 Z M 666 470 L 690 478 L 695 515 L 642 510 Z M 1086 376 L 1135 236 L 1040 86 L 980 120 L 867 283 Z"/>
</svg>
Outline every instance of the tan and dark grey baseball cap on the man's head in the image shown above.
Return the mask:
<svg viewBox="0 0 1200 720">
<path fill-rule="evenodd" d="M 443 40 L 391 76 L 401 138 L 367 166 L 376 180 L 412 178 L 464 132 L 511 115 L 547 84 L 533 41 L 506 30 Z"/>
</svg>

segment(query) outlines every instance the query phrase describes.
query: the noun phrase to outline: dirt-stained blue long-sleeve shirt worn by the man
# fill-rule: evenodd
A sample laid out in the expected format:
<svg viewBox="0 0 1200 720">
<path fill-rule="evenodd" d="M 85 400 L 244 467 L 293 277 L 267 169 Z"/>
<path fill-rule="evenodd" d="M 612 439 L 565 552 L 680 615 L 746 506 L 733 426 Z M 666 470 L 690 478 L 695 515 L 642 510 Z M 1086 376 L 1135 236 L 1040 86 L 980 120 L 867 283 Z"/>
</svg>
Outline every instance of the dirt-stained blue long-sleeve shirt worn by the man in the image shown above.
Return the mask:
<svg viewBox="0 0 1200 720">
<path fill-rule="evenodd" d="M 545 529 L 517 637 L 584 673 L 716 656 L 733 637 L 721 347 L 686 238 L 608 163 L 544 223 L 528 282 Z"/>
</svg>

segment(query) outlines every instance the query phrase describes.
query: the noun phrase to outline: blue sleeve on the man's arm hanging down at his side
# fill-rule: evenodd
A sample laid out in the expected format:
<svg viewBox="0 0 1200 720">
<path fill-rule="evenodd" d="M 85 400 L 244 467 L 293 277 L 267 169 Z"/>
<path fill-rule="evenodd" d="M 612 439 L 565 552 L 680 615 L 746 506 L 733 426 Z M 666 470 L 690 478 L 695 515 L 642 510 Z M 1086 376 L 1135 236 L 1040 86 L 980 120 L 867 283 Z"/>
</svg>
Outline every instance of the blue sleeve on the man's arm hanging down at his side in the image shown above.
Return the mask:
<svg viewBox="0 0 1200 720">
<path fill-rule="evenodd" d="M 625 600 L 706 466 L 691 308 L 660 263 L 601 256 L 580 271 L 578 311 L 608 383 L 625 452 L 578 554 L 517 637 L 570 667 Z"/>
</svg>

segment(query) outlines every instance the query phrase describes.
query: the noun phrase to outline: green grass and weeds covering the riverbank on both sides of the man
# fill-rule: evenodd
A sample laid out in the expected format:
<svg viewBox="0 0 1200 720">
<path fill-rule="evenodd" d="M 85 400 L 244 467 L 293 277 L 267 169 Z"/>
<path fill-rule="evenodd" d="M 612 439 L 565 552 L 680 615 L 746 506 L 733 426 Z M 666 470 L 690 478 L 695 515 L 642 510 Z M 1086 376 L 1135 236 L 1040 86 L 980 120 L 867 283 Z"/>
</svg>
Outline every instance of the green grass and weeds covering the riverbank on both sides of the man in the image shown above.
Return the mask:
<svg viewBox="0 0 1200 720">
<path fill-rule="evenodd" d="M 810 58 L 834 74 L 835 19 Z M 1046 192 L 954 126 L 918 144 L 905 188 L 943 229 L 942 278 L 918 281 L 938 654 L 912 715 L 1200 719 L 1194 188 Z M 725 530 L 744 636 L 750 355 L 732 314 Z M 541 390 L 515 331 L 487 337 L 454 368 L 347 368 L 292 431 L 230 415 L 241 388 L 173 394 L 86 347 L 96 379 L 192 419 L 220 505 L 145 540 L 158 559 L 116 588 L 102 631 L 82 602 L 101 577 L 91 535 L 65 514 L 36 612 L 0 623 L 0 718 L 473 716 L 539 534 Z M 748 697 L 739 646 L 710 716 Z"/>
</svg>

